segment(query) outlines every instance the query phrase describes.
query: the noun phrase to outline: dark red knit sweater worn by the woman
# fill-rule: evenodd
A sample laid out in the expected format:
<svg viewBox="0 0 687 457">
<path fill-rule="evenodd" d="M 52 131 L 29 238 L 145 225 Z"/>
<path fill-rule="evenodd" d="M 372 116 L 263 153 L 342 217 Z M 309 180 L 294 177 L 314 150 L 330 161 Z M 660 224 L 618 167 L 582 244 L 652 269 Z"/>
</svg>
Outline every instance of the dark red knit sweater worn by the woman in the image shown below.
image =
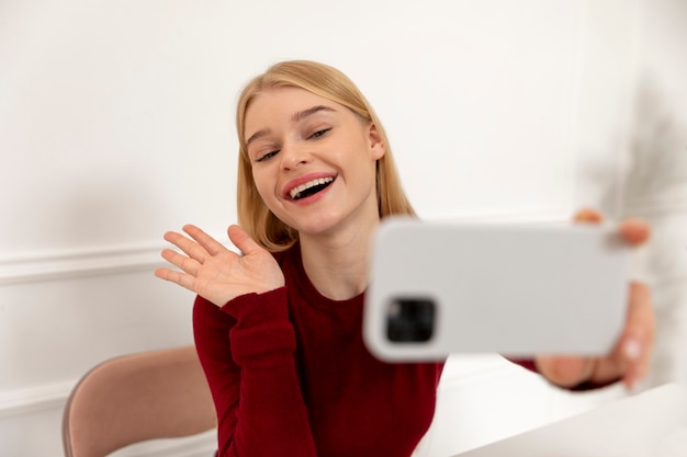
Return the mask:
<svg viewBox="0 0 687 457">
<path fill-rule="evenodd" d="M 275 259 L 285 287 L 222 308 L 195 301 L 218 455 L 410 456 L 432 420 L 443 364 L 378 361 L 362 342 L 363 295 L 319 294 L 297 244 Z"/>
</svg>

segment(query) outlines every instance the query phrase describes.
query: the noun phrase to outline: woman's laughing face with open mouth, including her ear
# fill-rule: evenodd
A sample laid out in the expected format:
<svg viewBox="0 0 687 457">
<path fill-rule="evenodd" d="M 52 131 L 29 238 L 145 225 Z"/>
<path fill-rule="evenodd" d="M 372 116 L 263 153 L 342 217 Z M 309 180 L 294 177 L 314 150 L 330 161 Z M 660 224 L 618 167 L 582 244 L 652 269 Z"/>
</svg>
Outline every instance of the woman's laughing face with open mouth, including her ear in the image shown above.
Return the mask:
<svg viewBox="0 0 687 457">
<path fill-rule="evenodd" d="M 375 162 L 385 147 L 347 107 L 303 89 L 271 89 L 252 100 L 244 135 L 258 192 L 301 237 L 379 219 Z"/>
</svg>

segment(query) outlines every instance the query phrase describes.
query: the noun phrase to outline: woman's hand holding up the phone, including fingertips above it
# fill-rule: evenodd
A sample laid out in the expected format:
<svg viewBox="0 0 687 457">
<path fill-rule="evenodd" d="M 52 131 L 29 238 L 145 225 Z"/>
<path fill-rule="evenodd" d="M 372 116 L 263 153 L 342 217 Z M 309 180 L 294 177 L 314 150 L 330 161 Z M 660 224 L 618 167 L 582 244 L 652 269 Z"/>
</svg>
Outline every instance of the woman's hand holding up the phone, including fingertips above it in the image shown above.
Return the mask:
<svg viewBox="0 0 687 457">
<path fill-rule="evenodd" d="M 594 210 L 582 210 L 575 216 L 579 222 L 598 224 L 601 216 Z M 640 219 L 620 224 L 620 235 L 630 245 L 649 240 L 651 229 Z M 624 329 L 610 354 L 605 357 L 540 356 L 534 363 L 551 382 L 575 387 L 583 382 L 604 385 L 622 379 L 628 388 L 642 381 L 651 363 L 654 346 L 655 320 L 649 288 L 638 282 L 629 285 L 628 312 Z"/>
</svg>

